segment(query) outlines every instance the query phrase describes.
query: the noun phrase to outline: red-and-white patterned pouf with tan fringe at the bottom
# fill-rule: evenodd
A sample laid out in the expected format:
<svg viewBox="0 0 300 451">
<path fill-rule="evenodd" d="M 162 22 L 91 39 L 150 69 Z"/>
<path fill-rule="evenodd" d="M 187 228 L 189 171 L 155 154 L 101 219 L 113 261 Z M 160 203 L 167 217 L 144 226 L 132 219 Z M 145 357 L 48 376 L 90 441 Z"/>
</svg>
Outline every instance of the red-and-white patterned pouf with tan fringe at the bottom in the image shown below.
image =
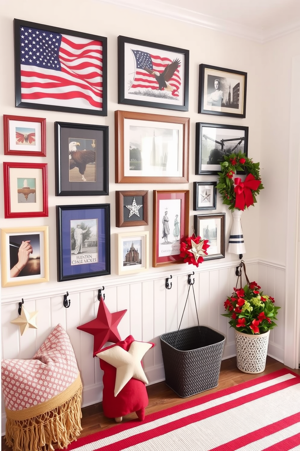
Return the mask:
<svg viewBox="0 0 300 451">
<path fill-rule="evenodd" d="M 1 361 L 6 444 L 54 451 L 80 435 L 82 383 L 69 336 L 58 324 L 30 360 Z"/>
</svg>

